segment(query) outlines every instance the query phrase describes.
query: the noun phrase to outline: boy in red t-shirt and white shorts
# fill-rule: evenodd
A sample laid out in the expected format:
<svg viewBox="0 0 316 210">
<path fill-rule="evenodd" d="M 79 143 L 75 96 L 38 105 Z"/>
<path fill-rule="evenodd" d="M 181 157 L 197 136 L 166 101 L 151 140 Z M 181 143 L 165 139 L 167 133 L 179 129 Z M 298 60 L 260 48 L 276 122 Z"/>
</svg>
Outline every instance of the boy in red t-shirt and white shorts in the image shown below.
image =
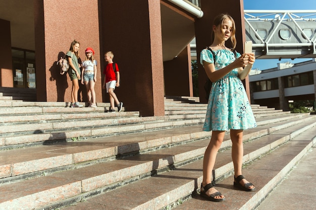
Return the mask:
<svg viewBox="0 0 316 210">
<path fill-rule="evenodd" d="M 109 112 L 115 112 L 114 102 L 118 106 L 118 111 L 120 112 L 123 108 L 123 102 L 119 102 L 116 94 L 114 93 L 115 87 L 120 87 L 120 70 L 118 64 L 115 63 L 116 72 L 114 72 L 113 57 L 114 54 L 112 51 L 109 51 L 106 54 L 104 54 L 104 59 L 106 59 L 108 64 L 106 65 L 106 67 L 104 67 L 103 74 L 105 75 L 105 77 L 102 88 L 107 89 L 107 93 L 109 93 L 110 96 L 111 107 Z"/>
</svg>

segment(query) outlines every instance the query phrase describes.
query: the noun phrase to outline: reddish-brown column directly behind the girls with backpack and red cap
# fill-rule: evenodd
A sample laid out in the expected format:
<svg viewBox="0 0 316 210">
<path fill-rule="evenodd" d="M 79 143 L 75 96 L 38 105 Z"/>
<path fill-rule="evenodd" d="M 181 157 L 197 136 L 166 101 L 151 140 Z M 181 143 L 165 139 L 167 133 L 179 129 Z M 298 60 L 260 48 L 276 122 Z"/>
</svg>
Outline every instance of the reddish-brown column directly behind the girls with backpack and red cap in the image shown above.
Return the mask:
<svg viewBox="0 0 316 210">
<path fill-rule="evenodd" d="M 78 0 L 76 5 L 80 7 L 63 0 L 34 1 L 37 101 L 71 101 L 72 82 L 67 73 L 60 74 L 57 61 L 69 50 L 71 42 L 77 40 L 82 60 L 86 47 L 95 51 L 96 102 L 102 102 L 98 0 Z"/>
</svg>

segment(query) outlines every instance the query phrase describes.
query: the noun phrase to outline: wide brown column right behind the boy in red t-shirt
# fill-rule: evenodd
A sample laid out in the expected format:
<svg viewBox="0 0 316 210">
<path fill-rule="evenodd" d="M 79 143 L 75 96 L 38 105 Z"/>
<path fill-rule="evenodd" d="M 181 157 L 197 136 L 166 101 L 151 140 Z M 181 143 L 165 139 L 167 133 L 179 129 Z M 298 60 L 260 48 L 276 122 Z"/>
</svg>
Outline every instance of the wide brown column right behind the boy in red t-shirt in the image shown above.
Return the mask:
<svg viewBox="0 0 316 210">
<path fill-rule="evenodd" d="M 100 1 L 102 51 L 113 51 L 126 111 L 165 115 L 160 0 Z M 109 100 L 104 93 L 104 100 Z"/>
</svg>

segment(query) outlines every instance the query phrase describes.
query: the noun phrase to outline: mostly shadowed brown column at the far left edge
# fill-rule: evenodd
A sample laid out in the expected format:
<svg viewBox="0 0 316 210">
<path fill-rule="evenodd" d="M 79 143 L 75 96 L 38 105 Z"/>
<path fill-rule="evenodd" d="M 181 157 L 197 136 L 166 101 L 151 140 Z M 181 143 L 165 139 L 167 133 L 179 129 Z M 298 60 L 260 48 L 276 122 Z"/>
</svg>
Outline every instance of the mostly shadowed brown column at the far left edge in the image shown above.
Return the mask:
<svg viewBox="0 0 316 210">
<path fill-rule="evenodd" d="M 13 87 L 10 21 L 0 19 L 0 87 Z"/>
</svg>

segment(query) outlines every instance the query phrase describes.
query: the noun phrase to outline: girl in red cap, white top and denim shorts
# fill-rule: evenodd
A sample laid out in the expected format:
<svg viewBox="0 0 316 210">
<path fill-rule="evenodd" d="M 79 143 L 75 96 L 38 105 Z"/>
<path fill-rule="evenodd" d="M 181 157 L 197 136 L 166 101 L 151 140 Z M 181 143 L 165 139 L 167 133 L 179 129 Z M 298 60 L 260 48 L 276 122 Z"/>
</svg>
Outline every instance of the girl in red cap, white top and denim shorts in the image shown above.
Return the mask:
<svg viewBox="0 0 316 210">
<path fill-rule="evenodd" d="M 82 62 L 81 84 L 86 86 L 89 107 L 96 107 L 94 84 L 96 82 L 96 60 L 93 59 L 94 50 L 88 47 L 85 50 L 86 59 Z"/>
</svg>

